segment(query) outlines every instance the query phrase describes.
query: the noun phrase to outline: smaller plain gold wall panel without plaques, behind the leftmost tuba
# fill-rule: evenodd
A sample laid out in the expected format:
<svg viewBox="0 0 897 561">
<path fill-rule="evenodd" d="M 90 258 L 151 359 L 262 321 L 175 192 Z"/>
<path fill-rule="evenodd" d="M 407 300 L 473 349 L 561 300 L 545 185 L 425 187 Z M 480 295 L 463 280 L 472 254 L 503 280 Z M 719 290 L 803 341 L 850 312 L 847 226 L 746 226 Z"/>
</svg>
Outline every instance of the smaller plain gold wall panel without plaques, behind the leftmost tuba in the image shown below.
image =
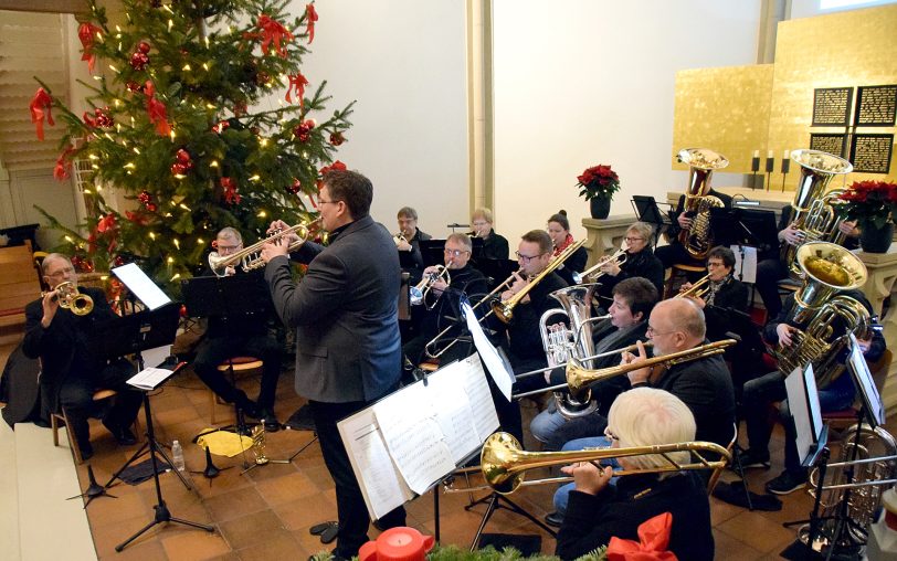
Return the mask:
<svg viewBox="0 0 897 561">
<path fill-rule="evenodd" d="M 676 73 L 673 169 L 683 148 L 710 148 L 729 159 L 728 172 L 750 173 L 753 150 L 767 146 L 772 64 Z"/>
</svg>

